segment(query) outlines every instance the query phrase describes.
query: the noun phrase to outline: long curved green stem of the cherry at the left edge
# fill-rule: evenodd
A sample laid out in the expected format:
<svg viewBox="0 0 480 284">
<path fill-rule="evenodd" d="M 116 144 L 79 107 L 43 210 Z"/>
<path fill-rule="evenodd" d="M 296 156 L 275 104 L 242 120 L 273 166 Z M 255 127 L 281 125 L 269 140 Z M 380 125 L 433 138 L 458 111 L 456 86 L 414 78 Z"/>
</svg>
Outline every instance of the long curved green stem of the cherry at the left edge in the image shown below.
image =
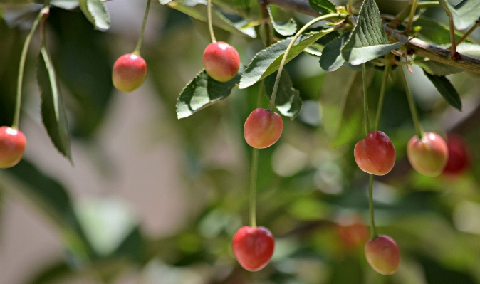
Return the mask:
<svg viewBox="0 0 480 284">
<path fill-rule="evenodd" d="M 18 75 L 17 85 L 16 85 L 16 102 L 15 102 L 14 122 L 11 124 L 11 128 L 14 128 L 15 130 L 19 129 L 20 105 L 21 105 L 21 88 L 22 88 L 22 83 L 24 81 L 26 53 L 28 51 L 28 46 L 30 46 L 31 38 L 33 37 L 33 33 L 35 33 L 35 30 L 38 26 L 38 23 L 40 23 L 41 19 L 48 14 L 48 11 L 49 11 L 48 6 L 49 6 L 48 1 L 45 1 L 45 4 L 43 5 L 43 8 L 38 12 L 38 15 L 37 15 L 35 21 L 33 21 L 33 25 L 31 26 L 30 31 L 28 32 L 28 35 L 25 38 L 24 47 L 21 50 L 19 75 Z"/>
</svg>

